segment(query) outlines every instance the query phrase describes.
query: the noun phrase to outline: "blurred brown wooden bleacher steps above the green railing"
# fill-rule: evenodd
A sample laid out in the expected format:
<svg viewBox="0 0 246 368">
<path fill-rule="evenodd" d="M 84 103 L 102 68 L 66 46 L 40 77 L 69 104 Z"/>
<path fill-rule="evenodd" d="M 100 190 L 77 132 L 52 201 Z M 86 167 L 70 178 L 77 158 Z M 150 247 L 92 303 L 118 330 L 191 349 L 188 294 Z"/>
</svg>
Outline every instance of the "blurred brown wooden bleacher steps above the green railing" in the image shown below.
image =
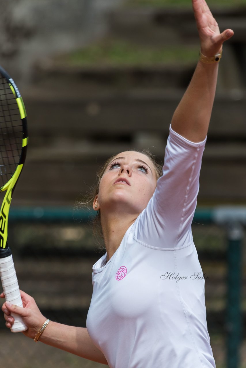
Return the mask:
<svg viewBox="0 0 246 368">
<path fill-rule="evenodd" d="M 218 10 L 218 17 L 222 27 L 235 29 L 235 37 L 224 47 L 198 204 L 245 204 L 246 81 L 238 45 L 245 50 L 246 10 Z M 134 30 L 139 42 L 161 42 L 161 34 L 169 32 L 175 42 L 198 45 L 191 11 L 121 9 L 109 21 L 114 35 L 132 37 Z M 39 64 L 32 89 L 22 93 L 30 146 L 15 204 L 73 205 L 104 160 L 131 148 L 149 148 L 163 162 L 171 116 L 195 63 L 146 68 Z"/>
</svg>

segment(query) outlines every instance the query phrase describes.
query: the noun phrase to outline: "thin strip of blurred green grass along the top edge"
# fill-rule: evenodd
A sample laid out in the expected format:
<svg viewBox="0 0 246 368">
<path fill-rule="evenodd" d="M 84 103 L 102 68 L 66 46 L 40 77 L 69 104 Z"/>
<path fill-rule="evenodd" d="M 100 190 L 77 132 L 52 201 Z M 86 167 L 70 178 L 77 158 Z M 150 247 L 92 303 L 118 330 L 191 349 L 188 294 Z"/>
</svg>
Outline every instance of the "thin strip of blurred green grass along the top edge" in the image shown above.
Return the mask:
<svg viewBox="0 0 246 368">
<path fill-rule="evenodd" d="M 208 6 L 235 7 L 246 5 L 246 0 L 208 0 Z M 154 7 L 191 7 L 191 0 L 127 0 L 125 6 L 154 6 Z"/>
</svg>

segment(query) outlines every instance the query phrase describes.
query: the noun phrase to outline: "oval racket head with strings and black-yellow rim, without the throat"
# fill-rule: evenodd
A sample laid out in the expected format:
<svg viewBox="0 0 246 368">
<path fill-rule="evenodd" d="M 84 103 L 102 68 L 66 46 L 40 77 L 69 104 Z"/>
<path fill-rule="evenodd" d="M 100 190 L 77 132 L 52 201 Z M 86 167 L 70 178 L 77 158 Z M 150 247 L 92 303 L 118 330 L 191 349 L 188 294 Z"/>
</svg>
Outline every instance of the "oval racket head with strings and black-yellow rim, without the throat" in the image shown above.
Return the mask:
<svg viewBox="0 0 246 368">
<path fill-rule="evenodd" d="M 21 94 L 6 70 L 0 67 L 0 191 L 7 190 L 14 173 L 21 171 L 27 144 L 27 113 Z"/>
</svg>

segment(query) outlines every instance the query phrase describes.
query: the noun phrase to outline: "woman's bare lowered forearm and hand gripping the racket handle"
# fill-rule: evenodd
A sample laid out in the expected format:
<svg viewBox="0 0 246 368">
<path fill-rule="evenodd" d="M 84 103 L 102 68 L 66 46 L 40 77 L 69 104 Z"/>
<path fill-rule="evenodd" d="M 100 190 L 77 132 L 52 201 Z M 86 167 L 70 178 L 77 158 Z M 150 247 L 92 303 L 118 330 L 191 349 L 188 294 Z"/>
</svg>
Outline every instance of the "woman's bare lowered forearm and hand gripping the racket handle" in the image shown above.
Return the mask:
<svg viewBox="0 0 246 368">
<path fill-rule="evenodd" d="M 4 298 L 4 294 L 1 293 L 0 297 Z M 10 312 L 21 315 L 25 324 L 28 326 L 28 330 L 23 332 L 24 335 L 34 339 L 46 321 L 46 317 L 41 314 L 32 297 L 21 291 L 21 298 L 24 308 L 17 307 L 16 305 L 7 305 L 6 302 L 3 304 L 2 311 L 4 312 L 6 326 L 11 328 L 14 321 L 13 317 L 10 316 Z M 51 321 L 40 336 L 39 341 L 79 355 L 79 357 L 108 365 L 104 354 L 91 340 L 87 328 L 67 326 Z M 33 343 L 35 344 L 35 342 Z"/>
</svg>

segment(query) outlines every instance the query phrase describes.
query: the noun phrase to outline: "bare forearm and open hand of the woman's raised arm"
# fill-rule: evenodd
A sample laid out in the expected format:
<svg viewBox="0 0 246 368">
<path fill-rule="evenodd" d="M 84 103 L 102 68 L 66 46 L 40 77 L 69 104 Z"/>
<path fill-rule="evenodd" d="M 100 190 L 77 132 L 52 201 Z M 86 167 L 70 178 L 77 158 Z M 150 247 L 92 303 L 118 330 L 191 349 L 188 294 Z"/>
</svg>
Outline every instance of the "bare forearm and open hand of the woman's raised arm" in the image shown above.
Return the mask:
<svg viewBox="0 0 246 368">
<path fill-rule="evenodd" d="M 201 53 L 212 57 L 222 52 L 223 43 L 233 36 L 231 29 L 220 33 L 205 0 L 192 0 L 201 43 Z M 192 142 L 201 142 L 208 132 L 219 63 L 198 61 L 193 78 L 171 121 L 172 129 Z"/>
</svg>

